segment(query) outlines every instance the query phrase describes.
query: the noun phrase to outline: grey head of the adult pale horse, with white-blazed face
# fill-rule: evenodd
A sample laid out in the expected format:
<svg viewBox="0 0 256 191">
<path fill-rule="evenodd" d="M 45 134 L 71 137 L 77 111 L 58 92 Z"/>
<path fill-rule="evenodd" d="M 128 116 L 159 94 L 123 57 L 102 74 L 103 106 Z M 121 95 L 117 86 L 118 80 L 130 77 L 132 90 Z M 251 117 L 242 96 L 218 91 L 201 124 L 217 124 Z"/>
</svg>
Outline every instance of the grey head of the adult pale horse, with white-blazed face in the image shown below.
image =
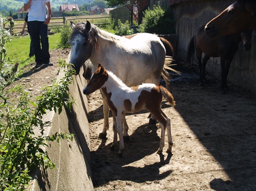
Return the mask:
<svg viewBox="0 0 256 191">
<path fill-rule="evenodd" d="M 70 36 L 71 54 L 69 63 L 74 64 L 76 75 L 79 74 L 80 67 L 88 60 L 93 51 L 93 34 L 92 26 L 89 21 L 79 22 L 75 25 L 71 22 L 73 32 Z"/>
</svg>

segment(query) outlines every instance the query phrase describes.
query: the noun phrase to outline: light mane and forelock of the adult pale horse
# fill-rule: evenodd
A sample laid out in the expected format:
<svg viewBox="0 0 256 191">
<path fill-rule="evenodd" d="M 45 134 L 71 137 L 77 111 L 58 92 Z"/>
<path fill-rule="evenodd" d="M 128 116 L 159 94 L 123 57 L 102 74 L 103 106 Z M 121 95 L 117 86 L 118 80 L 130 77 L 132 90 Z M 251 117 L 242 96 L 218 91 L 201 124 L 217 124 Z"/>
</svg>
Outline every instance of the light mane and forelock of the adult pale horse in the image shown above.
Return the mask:
<svg viewBox="0 0 256 191">
<path fill-rule="evenodd" d="M 91 23 L 91 30 L 89 32 L 86 31 L 86 22 L 78 22 L 75 25 L 75 28 L 73 29 L 73 32 L 70 36 L 70 39 L 73 38 L 73 36 L 79 33 L 81 34 L 84 38 L 88 39 L 90 43 L 92 43 L 95 48 L 99 46 L 99 38 L 103 38 L 106 40 L 110 40 L 112 42 L 115 42 L 119 39 L 119 36 L 111 34 L 109 32 L 100 30 L 97 26 L 93 25 Z"/>
</svg>

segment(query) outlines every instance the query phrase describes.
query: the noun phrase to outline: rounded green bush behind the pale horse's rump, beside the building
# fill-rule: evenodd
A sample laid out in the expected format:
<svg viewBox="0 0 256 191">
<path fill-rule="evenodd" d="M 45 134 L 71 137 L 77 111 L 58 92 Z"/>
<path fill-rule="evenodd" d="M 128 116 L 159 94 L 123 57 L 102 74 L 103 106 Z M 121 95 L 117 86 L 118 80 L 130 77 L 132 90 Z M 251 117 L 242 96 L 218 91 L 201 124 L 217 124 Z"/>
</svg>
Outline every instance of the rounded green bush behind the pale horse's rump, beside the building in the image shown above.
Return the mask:
<svg viewBox="0 0 256 191">
<path fill-rule="evenodd" d="M 144 11 L 142 23 L 139 26 L 141 33 L 174 34 L 174 19 L 170 9 L 162 9 L 154 5 L 153 10 L 149 8 Z"/>
</svg>

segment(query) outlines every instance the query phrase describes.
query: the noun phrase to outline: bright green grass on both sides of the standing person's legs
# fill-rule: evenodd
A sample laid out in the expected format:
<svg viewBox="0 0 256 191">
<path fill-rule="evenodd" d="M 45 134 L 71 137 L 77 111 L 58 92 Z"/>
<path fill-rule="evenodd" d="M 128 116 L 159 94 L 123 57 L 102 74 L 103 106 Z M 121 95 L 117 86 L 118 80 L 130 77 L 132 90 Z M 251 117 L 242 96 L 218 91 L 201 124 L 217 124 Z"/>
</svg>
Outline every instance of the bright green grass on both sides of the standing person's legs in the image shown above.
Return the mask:
<svg viewBox="0 0 256 191">
<path fill-rule="evenodd" d="M 60 33 L 49 36 L 49 50 L 57 49 L 60 42 Z M 6 45 L 7 57 L 10 58 L 11 63 L 18 62 L 19 70 L 35 62 L 35 57 L 29 58 L 29 49 L 30 49 L 30 37 L 19 36 L 11 37 L 11 43 Z M 20 74 L 21 75 L 21 74 Z"/>
</svg>

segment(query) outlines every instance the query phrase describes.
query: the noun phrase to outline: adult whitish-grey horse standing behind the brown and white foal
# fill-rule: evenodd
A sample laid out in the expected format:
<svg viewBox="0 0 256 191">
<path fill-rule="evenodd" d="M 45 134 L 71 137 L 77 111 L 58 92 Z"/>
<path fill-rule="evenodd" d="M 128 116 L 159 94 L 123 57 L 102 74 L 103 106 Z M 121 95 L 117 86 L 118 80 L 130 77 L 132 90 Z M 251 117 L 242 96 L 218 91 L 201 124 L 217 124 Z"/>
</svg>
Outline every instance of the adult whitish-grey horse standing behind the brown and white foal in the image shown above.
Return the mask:
<svg viewBox="0 0 256 191">
<path fill-rule="evenodd" d="M 162 75 L 170 90 L 166 69 L 173 70 L 168 67 L 172 59 L 171 57 L 165 58 L 165 47 L 158 36 L 140 33 L 129 39 L 100 30 L 89 21 L 80 22 L 77 25 L 71 22 L 71 28 L 73 32 L 70 36 L 69 63 L 74 64 L 76 74 L 79 73 L 84 62 L 90 59 L 93 71 L 97 69 L 98 63 L 103 63 L 106 69 L 117 75 L 127 86 L 135 86 L 142 82 L 159 85 Z M 106 130 L 109 129 L 109 107 L 102 91 L 101 94 L 104 126 L 99 137 L 104 138 Z M 123 124 L 124 136 L 129 139 L 125 118 Z"/>
</svg>

